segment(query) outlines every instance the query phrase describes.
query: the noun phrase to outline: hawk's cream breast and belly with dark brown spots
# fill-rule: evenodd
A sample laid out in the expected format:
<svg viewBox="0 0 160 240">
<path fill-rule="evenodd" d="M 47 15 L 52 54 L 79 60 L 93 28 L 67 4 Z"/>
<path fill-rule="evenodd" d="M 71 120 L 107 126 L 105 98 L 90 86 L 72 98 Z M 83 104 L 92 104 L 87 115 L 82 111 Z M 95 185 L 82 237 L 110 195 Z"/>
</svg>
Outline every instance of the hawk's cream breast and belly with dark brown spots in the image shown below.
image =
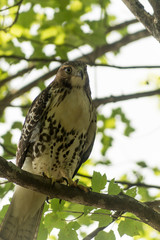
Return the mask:
<svg viewBox="0 0 160 240">
<path fill-rule="evenodd" d="M 33 146 L 36 174 L 72 178 L 84 150 L 91 104 L 82 88 L 53 94 Z"/>
</svg>

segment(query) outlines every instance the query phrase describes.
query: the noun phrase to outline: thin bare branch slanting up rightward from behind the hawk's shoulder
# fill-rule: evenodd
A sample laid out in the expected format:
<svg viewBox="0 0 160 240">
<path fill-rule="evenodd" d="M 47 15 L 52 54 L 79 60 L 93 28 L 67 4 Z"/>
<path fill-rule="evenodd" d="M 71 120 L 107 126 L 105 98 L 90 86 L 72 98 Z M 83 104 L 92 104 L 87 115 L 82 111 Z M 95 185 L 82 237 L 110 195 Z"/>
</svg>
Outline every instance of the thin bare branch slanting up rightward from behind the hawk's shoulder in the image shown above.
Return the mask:
<svg viewBox="0 0 160 240">
<path fill-rule="evenodd" d="M 147 92 L 141 92 L 141 93 L 133 93 L 133 94 L 127 94 L 127 95 L 121 95 L 121 96 L 110 96 L 110 97 L 104 97 L 104 98 L 97 98 L 94 99 L 94 105 L 96 108 L 98 108 L 100 105 L 108 104 L 108 103 L 115 103 L 120 101 L 125 101 L 129 99 L 136 99 L 141 97 L 149 97 L 154 95 L 160 94 L 160 89 L 156 89 L 153 91 L 147 91 Z"/>
</svg>

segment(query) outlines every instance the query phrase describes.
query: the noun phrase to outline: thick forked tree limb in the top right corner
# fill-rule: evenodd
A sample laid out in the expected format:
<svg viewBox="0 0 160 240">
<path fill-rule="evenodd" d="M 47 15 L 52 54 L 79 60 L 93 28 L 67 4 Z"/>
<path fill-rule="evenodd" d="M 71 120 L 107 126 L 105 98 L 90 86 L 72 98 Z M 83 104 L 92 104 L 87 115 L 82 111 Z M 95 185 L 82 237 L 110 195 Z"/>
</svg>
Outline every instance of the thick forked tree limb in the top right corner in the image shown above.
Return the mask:
<svg viewBox="0 0 160 240">
<path fill-rule="evenodd" d="M 144 6 L 138 0 L 122 0 L 124 4 L 130 9 L 135 17 L 145 26 L 145 28 L 158 41 L 160 41 L 160 4 L 157 0 L 149 0 L 154 14 L 148 13 Z"/>
</svg>

